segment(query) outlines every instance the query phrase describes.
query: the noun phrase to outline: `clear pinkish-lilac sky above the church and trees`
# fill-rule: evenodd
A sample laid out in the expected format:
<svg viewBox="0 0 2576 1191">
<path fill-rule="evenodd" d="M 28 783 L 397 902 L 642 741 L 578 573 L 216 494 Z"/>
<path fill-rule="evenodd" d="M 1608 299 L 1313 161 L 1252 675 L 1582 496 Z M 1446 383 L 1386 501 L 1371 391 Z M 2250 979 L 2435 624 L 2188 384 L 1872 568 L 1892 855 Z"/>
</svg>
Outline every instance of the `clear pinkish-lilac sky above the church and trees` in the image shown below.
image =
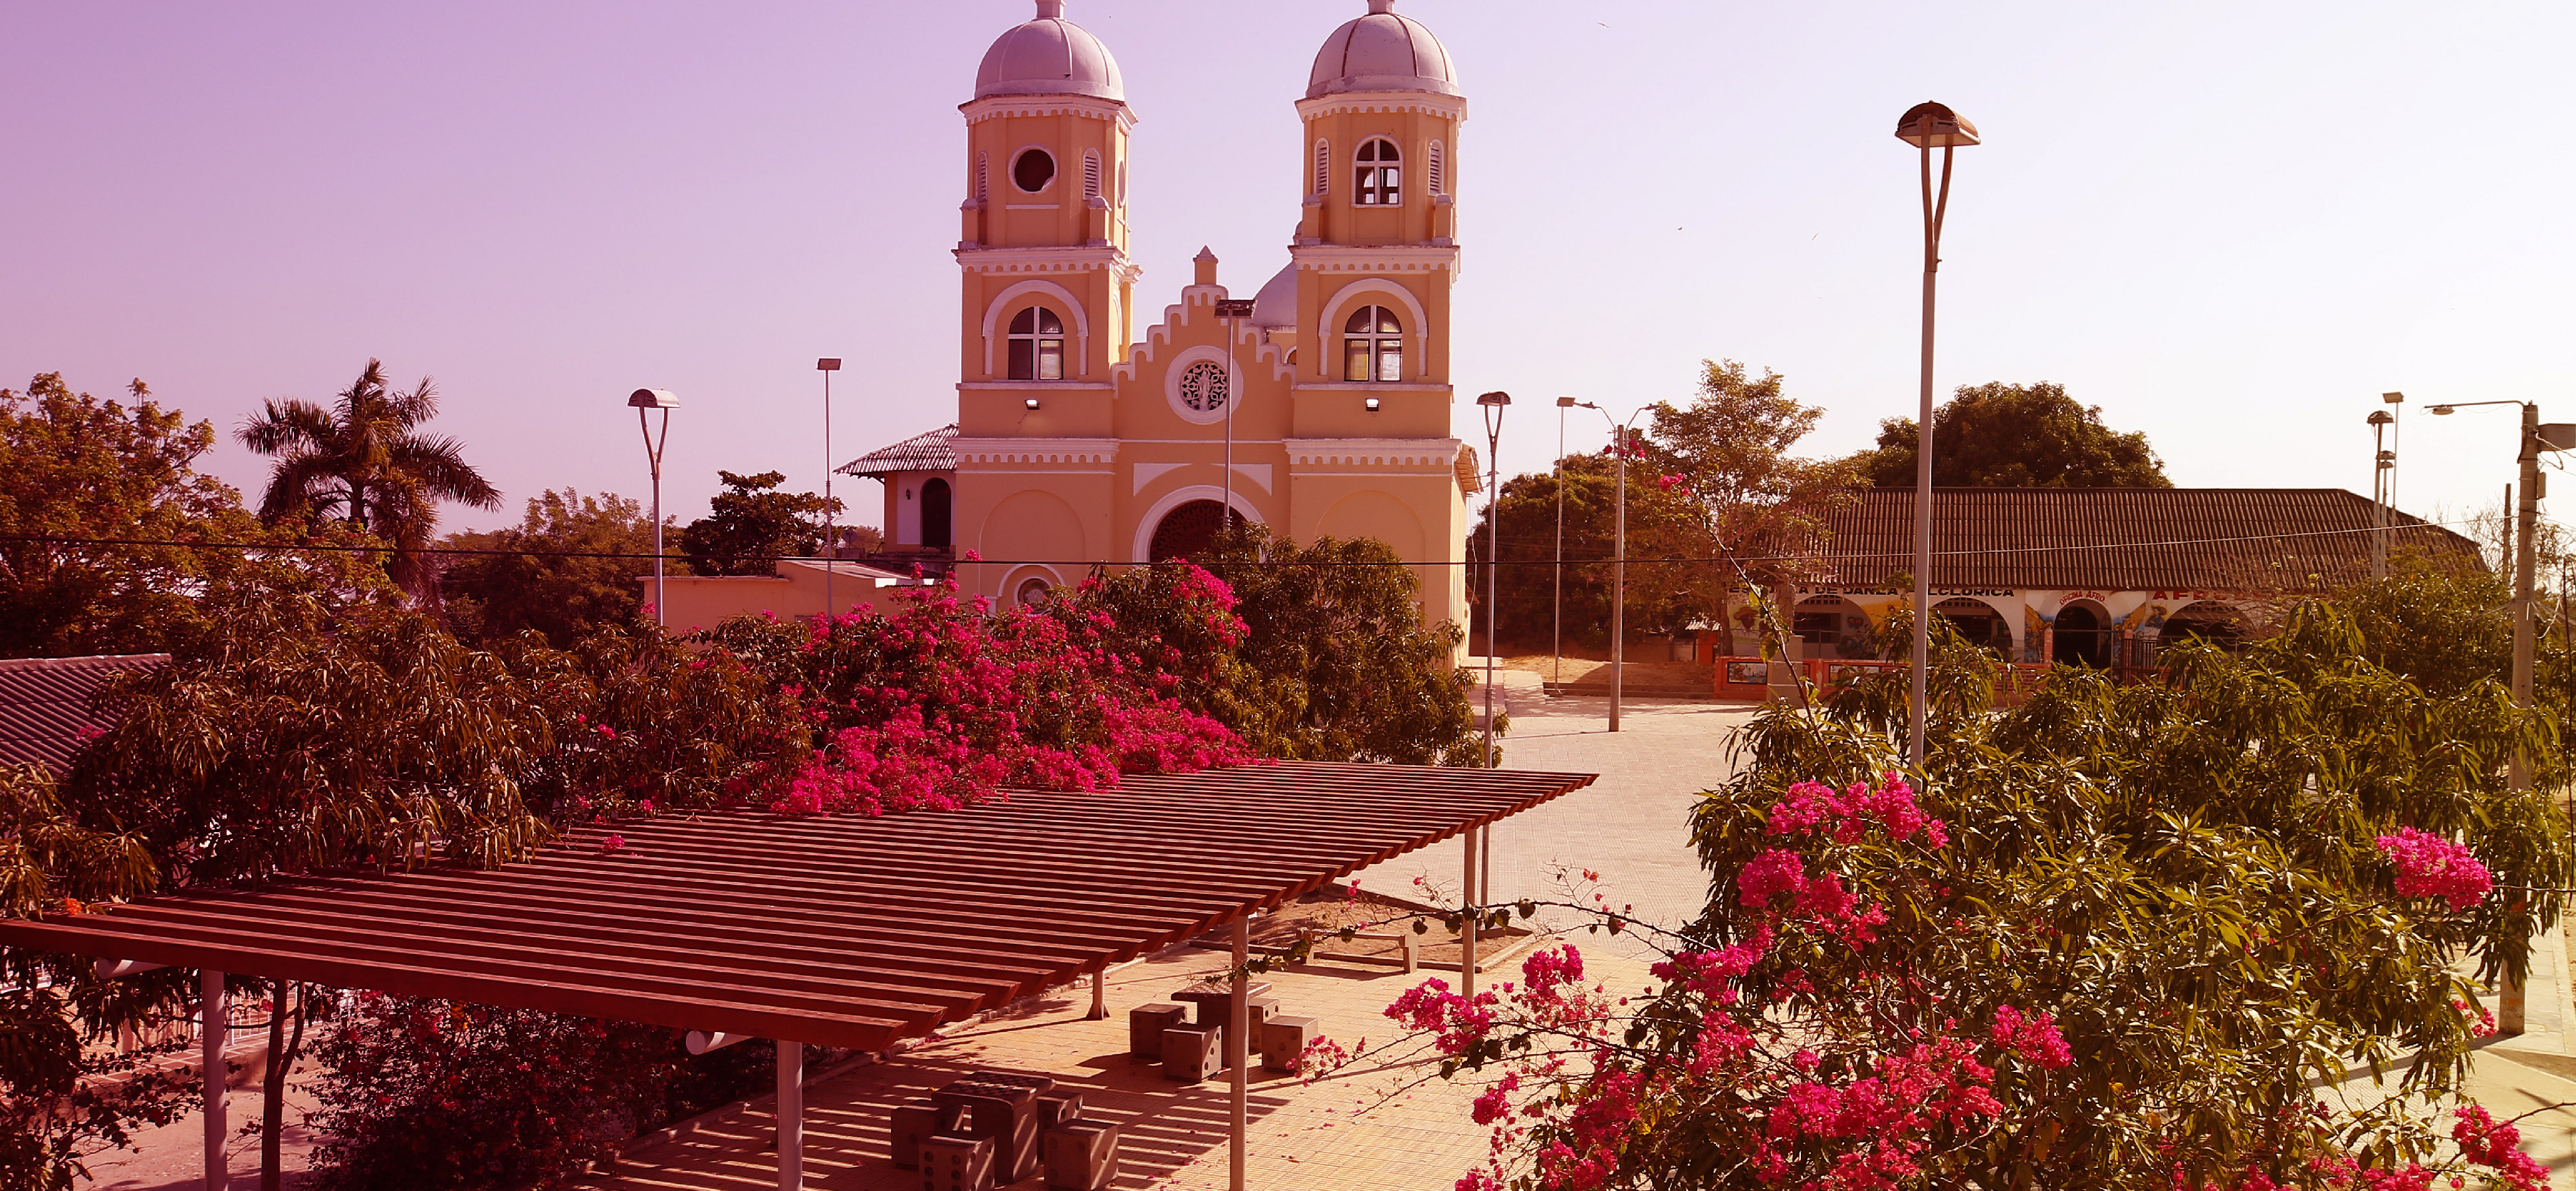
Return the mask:
<svg viewBox="0 0 2576 1191">
<path fill-rule="evenodd" d="M 1072 0 L 1139 113 L 1144 315 L 1211 245 L 1249 296 L 1298 214 L 1314 49 L 1360 0 Z M 1816 454 L 1911 415 L 1919 206 L 1896 116 L 1963 150 L 1937 384 L 2066 384 L 2182 485 L 2512 479 L 2512 410 L 2576 420 L 2576 8 L 2421 3 L 1404 0 L 1458 62 L 1455 382 L 1685 397 L 1700 358 L 1829 410 Z M 956 206 L 984 46 L 1028 0 L 0 5 L 0 384 L 144 376 L 216 428 L 327 400 L 368 356 L 510 498 L 647 487 L 623 410 L 680 392 L 667 508 L 714 472 L 824 472 L 951 420 Z M 1479 438 L 1473 407 L 1455 431 Z M 1577 443 L 1602 438 L 1574 428 Z M 1479 443 L 1481 446 L 1481 443 Z M 263 461 L 209 467 L 245 490 Z M 855 521 L 873 482 L 842 479 Z M 2571 492 L 2576 495 L 2576 492 Z"/>
</svg>

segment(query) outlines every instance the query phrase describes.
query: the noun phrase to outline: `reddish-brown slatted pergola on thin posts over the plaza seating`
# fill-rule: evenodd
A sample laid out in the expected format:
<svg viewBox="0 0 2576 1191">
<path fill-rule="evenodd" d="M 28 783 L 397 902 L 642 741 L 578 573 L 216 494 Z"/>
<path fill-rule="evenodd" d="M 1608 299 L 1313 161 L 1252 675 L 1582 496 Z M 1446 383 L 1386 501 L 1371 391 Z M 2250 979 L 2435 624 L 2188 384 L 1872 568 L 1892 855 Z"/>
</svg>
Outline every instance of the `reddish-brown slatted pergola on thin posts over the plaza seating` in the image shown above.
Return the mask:
<svg viewBox="0 0 2576 1191">
<path fill-rule="evenodd" d="M 1234 925 L 1334 876 L 1489 828 L 1589 773 L 1267 763 L 1012 791 L 961 812 L 670 815 L 582 828 L 528 864 L 343 871 L 0 920 L 0 944 L 108 974 L 204 972 L 206 1188 L 222 1191 L 224 972 L 778 1039 L 778 1186 L 804 1186 L 799 1044 L 886 1044 Z M 618 835 L 618 840 L 611 840 Z M 1473 995 L 1476 933 L 1463 985 Z M 1236 977 L 1234 1186 L 1247 998 Z"/>
</svg>

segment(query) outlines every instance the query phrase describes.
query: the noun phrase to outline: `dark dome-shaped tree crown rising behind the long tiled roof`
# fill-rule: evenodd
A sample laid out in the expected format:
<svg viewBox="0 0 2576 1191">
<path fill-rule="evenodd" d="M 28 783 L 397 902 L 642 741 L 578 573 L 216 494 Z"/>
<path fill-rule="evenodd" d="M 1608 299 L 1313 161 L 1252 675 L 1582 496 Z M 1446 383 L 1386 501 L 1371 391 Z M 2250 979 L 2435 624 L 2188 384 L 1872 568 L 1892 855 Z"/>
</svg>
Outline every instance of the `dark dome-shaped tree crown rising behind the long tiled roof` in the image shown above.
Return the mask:
<svg viewBox="0 0 2576 1191">
<path fill-rule="evenodd" d="M 1878 423 L 1878 449 L 1852 456 L 1873 487 L 1914 487 L 1914 418 Z M 2066 387 L 1963 384 L 1932 410 L 1932 482 L 1940 487 L 2174 487 L 2146 433 L 2102 425 L 2099 405 Z"/>
</svg>

